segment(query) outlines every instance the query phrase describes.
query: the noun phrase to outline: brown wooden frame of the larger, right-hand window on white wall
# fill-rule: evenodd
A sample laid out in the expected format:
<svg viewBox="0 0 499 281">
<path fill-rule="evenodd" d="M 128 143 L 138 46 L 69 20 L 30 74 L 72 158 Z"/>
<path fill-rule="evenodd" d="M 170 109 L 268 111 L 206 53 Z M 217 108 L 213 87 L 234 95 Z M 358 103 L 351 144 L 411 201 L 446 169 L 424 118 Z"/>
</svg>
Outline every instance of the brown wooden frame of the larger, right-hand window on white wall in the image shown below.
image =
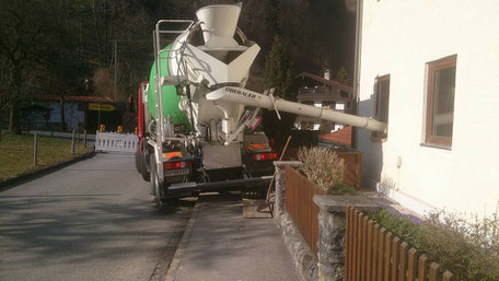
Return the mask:
<svg viewBox="0 0 499 281">
<path fill-rule="evenodd" d="M 451 148 L 452 147 L 452 136 L 451 137 L 442 137 L 442 136 L 434 136 L 432 133 L 432 124 L 433 124 L 433 109 L 434 109 L 434 73 L 438 70 L 443 70 L 448 68 L 455 68 L 457 71 L 457 55 L 452 55 L 449 57 L 444 57 L 438 60 L 433 60 L 427 62 L 428 66 L 428 83 L 427 83 L 427 93 L 426 93 L 426 116 L 425 116 L 425 144 L 427 145 L 437 145 L 442 148 Z M 454 77 L 454 101 L 455 105 L 455 77 Z M 452 130 L 454 130 L 454 112 L 452 116 Z"/>
</svg>

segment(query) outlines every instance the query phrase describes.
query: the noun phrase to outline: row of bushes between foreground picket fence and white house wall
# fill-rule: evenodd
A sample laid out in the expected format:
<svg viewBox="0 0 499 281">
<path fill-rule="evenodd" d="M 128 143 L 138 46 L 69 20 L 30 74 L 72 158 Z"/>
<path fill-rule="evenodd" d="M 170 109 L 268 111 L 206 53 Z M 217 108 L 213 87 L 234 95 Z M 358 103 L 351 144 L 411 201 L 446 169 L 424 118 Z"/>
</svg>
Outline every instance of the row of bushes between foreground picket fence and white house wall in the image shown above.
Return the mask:
<svg viewBox="0 0 499 281">
<path fill-rule="evenodd" d="M 455 214 L 432 213 L 426 220 L 391 207 L 370 215 L 376 223 L 451 271 L 455 280 L 499 280 L 499 216 L 469 224 Z"/>
</svg>

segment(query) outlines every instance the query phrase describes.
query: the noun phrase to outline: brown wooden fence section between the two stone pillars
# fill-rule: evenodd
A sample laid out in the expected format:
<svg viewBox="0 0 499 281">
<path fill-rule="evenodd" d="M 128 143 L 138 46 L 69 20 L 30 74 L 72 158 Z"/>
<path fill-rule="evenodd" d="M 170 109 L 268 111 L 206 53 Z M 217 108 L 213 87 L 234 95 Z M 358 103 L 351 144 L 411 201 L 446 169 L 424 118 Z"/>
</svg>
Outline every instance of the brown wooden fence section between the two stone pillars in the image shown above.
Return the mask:
<svg viewBox="0 0 499 281">
<path fill-rule="evenodd" d="M 322 195 L 306 177 L 286 166 L 286 210 L 293 219 L 312 251 L 317 255 L 318 207 L 314 195 Z"/>
</svg>

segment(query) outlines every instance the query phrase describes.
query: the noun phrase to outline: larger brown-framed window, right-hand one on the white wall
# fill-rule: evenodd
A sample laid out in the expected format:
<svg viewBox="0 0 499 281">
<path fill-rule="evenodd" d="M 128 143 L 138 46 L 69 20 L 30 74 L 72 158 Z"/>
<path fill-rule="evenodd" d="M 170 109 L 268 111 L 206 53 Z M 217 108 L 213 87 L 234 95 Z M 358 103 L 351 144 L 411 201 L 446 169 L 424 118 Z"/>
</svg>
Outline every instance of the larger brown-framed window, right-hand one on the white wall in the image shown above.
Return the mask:
<svg viewBox="0 0 499 281">
<path fill-rule="evenodd" d="M 456 56 L 428 63 L 426 138 L 428 144 L 450 148 L 454 124 Z"/>
</svg>

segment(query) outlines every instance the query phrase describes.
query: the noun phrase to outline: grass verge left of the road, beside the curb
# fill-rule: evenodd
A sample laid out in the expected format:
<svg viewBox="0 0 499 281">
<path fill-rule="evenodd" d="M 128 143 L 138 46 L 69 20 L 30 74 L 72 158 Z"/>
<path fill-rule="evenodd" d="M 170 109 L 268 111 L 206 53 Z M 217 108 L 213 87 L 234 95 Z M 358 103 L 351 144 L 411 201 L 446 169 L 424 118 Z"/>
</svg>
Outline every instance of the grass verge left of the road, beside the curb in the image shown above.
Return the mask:
<svg viewBox="0 0 499 281">
<path fill-rule="evenodd" d="M 33 165 L 33 136 L 2 133 L 0 140 L 0 183 L 83 155 L 91 151 L 83 142 L 76 144 L 71 155 L 71 141 L 38 137 L 38 163 Z"/>
</svg>

